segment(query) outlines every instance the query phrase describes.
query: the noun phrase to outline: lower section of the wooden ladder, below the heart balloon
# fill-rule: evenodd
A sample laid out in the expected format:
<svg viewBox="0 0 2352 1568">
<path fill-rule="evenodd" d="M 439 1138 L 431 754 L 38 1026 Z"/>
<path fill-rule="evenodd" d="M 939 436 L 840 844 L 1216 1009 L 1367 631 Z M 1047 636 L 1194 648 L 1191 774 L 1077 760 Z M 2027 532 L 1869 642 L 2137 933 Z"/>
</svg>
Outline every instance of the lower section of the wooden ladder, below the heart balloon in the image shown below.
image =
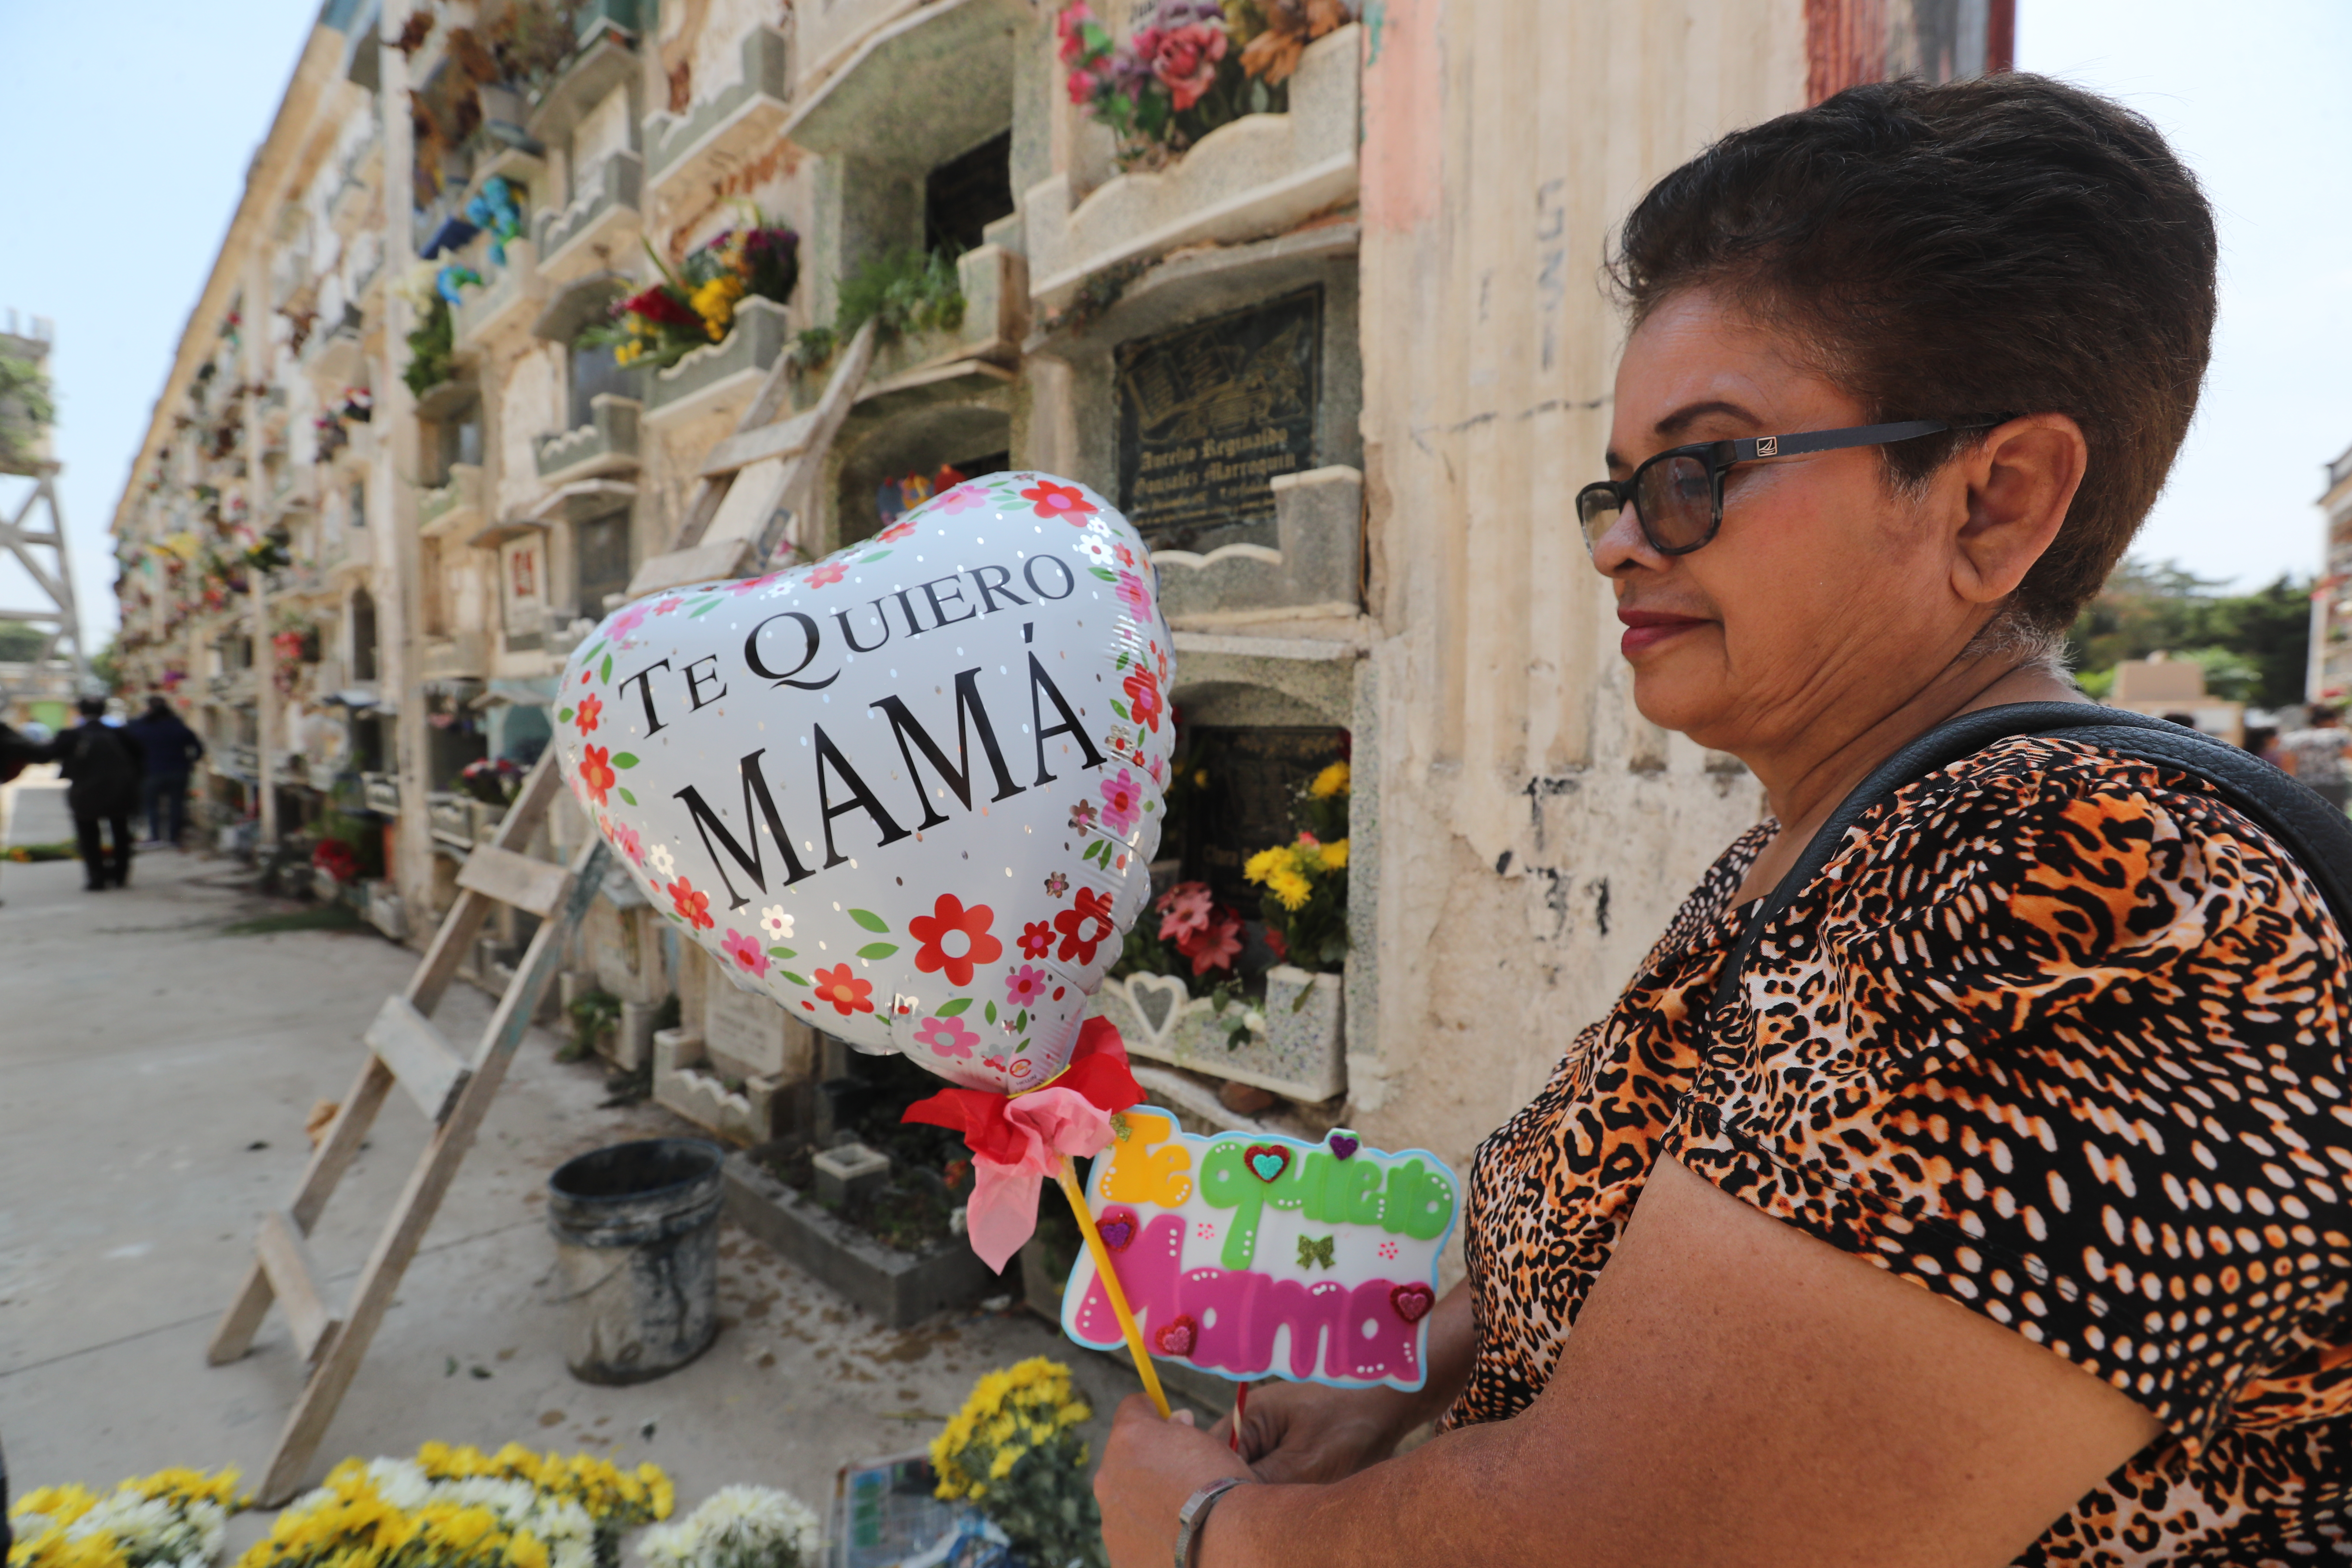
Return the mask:
<svg viewBox="0 0 2352 1568">
<path fill-rule="evenodd" d="M 254 1342 L 254 1331 L 261 1328 L 261 1319 L 275 1300 L 287 1312 L 294 1345 L 308 1368 L 301 1399 L 294 1401 L 294 1413 L 287 1418 L 285 1432 L 278 1434 L 278 1450 L 256 1488 L 256 1497 L 268 1507 L 287 1502 L 301 1486 L 310 1455 L 327 1436 L 327 1422 L 334 1420 L 343 1392 L 360 1371 L 367 1342 L 393 1305 L 400 1276 L 416 1258 L 416 1246 L 423 1241 L 426 1227 L 433 1225 L 433 1213 L 440 1208 L 442 1194 L 449 1192 L 459 1161 L 466 1159 L 482 1117 L 489 1114 L 489 1103 L 506 1079 L 515 1046 L 522 1044 L 522 1034 L 539 1011 L 539 999 L 562 964 L 564 943 L 588 914 L 588 903 L 602 882 L 609 851 L 604 839 L 595 835 L 574 856 L 569 870 L 522 853 L 522 846 L 546 820 L 560 788 L 555 748 L 550 745 L 522 780 L 522 792 L 508 806 L 496 837 L 489 844 L 477 844 L 466 858 L 456 877 L 459 898 L 433 936 L 433 945 L 407 990 L 388 997 L 383 1011 L 367 1025 L 367 1063 L 360 1067 L 360 1079 L 343 1095 L 343 1110 L 310 1154 L 310 1166 L 294 1187 L 294 1201 L 261 1215 L 261 1239 L 254 1246 L 254 1262 L 245 1272 L 245 1286 L 212 1333 L 207 1361 L 212 1366 L 235 1361 Z M 433 1027 L 433 1009 L 440 1006 L 449 980 L 456 978 L 459 961 L 473 952 L 482 919 L 499 903 L 536 914 L 539 931 L 532 936 L 515 978 L 508 980 L 482 1044 L 468 1060 Z M 318 1262 L 310 1258 L 308 1234 L 318 1225 L 320 1211 L 327 1208 L 334 1185 L 358 1157 L 360 1140 L 374 1126 L 393 1084 L 407 1088 L 416 1107 L 433 1121 L 433 1138 L 416 1159 L 416 1168 L 393 1206 L 390 1222 L 367 1255 L 348 1314 L 336 1316 L 327 1305 Z"/>
</svg>

